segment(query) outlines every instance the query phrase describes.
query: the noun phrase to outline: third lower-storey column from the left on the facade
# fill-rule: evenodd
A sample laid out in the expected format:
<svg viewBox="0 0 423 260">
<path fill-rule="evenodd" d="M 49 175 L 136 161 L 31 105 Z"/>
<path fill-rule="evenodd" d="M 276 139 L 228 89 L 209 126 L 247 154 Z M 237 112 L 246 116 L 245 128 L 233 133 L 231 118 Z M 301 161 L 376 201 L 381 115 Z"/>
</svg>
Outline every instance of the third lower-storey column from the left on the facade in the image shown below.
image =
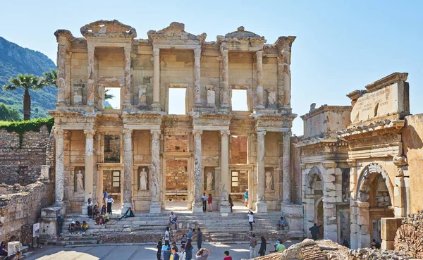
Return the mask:
<svg viewBox="0 0 423 260">
<path fill-rule="evenodd" d="M 123 129 L 123 206 L 125 212 L 132 205 L 133 149 L 131 129 Z"/>
</svg>

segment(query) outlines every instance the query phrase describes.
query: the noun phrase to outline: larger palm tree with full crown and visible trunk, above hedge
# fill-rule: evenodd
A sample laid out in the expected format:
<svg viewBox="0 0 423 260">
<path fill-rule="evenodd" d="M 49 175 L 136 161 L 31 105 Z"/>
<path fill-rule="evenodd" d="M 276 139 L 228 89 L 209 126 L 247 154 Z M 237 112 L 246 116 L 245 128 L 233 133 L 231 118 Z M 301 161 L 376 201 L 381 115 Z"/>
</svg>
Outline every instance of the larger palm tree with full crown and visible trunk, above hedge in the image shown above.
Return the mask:
<svg viewBox="0 0 423 260">
<path fill-rule="evenodd" d="M 4 90 L 16 90 L 16 88 L 23 89 L 25 94 L 23 94 L 23 120 L 30 120 L 31 117 L 31 90 L 42 89 L 44 84 L 44 79 L 39 78 L 35 75 L 22 75 L 19 74 L 16 78 L 11 78 L 9 80 L 11 84 L 4 85 Z"/>
</svg>

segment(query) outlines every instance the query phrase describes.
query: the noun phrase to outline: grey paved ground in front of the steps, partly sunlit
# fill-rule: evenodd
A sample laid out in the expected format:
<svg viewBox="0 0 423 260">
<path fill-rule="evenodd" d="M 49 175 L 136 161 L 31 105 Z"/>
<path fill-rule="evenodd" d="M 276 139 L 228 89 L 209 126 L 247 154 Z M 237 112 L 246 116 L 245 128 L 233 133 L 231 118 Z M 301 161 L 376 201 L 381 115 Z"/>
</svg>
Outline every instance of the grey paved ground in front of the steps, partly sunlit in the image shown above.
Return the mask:
<svg viewBox="0 0 423 260">
<path fill-rule="evenodd" d="M 290 246 L 298 241 L 287 241 L 283 244 Z M 270 242 L 269 242 L 270 243 Z M 269 249 L 270 246 L 267 244 Z M 273 242 L 271 242 L 273 243 Z M 231 252 L 233 260 L 249 259 L 250 251 L 248 244 L 207 244 L 203 247 L 209 249 L 210 257 L 208 260 L 221 260 L 224 257 L 223 252 Z M 258 247 L 256 248 L 258 250 Z M 27 260 L 156 260 L 156 246 L 151 245 L 99 245 L 91 247 L 43 247 L 38 249 L 34 255 L 26 258 Z M 266 252 L 269 254 L 269 251 Z"/>
</svg>

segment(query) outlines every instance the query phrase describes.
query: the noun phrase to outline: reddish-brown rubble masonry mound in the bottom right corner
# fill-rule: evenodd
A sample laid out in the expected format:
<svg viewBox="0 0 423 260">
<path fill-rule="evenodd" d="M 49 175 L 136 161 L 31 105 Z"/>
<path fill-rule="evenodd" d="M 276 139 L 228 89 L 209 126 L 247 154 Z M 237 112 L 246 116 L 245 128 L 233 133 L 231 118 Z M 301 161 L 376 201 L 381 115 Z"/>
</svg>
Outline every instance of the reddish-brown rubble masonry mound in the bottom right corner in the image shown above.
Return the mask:
<svg viewBox="0 0 423 260">
<path fill-rule="evenodd" d="M 423 210 L 408 214 L 396 232 L 393 245 L 396 251 L 423 259 Z"/>
</svg>

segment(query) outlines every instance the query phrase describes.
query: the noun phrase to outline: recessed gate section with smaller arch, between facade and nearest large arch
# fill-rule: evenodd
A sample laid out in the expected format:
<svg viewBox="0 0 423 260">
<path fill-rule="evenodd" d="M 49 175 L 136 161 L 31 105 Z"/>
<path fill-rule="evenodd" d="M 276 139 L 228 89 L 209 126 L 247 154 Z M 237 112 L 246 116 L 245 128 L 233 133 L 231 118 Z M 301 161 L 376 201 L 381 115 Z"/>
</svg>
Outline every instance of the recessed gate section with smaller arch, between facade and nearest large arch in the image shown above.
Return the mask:
<svg viewBox="0 0 423 260">
<path fill-rule="evenodd" d="M 312 104 L 301 116 L 304 136 L 295 144 L 300 149 L 304 231 L 314 223 L 322 225 L 324 239 L 342 243 L 350 237 L 350 166 L 348 143 L 337 132 L 350 125 L 351 106 Z"/>
</svg>

